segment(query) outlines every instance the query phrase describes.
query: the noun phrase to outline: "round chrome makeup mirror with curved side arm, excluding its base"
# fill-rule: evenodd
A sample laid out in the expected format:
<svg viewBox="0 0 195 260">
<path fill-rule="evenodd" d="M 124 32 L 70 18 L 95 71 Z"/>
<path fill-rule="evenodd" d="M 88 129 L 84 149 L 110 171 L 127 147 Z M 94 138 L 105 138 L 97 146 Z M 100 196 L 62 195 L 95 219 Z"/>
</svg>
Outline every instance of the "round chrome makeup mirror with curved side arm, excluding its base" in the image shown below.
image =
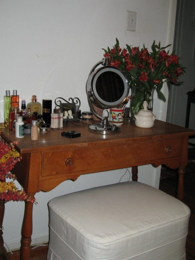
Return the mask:
<svg viewBox="0 0 195 260">
<path fill-rule="evenodd" d="M 103 66 L 96 69 L 100 64 Z M 92 103 L 102 109 L 119 107 L 128 97 L 129 81 L 122 71 L 109 66 L 107 58 L 98 62 L 90 71 L 86 90 L 91 111 L 102 119 L 102 116 L 94 110 Z"/>
</svg>

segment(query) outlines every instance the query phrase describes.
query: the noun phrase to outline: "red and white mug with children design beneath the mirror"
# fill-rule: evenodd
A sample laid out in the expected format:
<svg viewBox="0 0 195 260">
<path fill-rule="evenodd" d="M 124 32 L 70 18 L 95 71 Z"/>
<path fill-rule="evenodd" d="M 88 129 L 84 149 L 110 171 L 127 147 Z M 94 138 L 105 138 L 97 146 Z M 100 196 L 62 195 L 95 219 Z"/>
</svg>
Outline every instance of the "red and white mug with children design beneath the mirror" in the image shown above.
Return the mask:
<svg viewBox="0 0 195 260">
<path fill-rule="evenodd" d="M 105 111 L 108 112 L 109 123 L 115 124 L 117 126 L 121 126 L 124 123 L 124 114 L 125 114 L 124 108 L 104 109 L 102 112 L 103 117 L 105 116 Z"/>
</svg>

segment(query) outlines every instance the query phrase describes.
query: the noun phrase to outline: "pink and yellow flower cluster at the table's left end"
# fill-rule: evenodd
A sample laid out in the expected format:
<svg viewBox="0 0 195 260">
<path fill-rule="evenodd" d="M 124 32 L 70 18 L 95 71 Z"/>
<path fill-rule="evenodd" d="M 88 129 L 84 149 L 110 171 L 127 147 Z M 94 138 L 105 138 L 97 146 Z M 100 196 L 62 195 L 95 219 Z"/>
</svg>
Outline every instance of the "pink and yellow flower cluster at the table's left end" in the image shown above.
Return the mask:
<svg viewBox="0 0 195 260">
<path fill-rule="evenodd" d="M 15 174 L 11 173 L 11 170 L 22 159 L 19 152 L 14 148 L 14 144 L 18 144 L 18 142 L 9 144 L 0 140 L 0 200 L 34 203 L 35 199 L 29 197 L 25 191 L 19 190 L 14 183 L 17 178 Z M 10 181 L 6 181 L 6 179 Z"/>
</svg>

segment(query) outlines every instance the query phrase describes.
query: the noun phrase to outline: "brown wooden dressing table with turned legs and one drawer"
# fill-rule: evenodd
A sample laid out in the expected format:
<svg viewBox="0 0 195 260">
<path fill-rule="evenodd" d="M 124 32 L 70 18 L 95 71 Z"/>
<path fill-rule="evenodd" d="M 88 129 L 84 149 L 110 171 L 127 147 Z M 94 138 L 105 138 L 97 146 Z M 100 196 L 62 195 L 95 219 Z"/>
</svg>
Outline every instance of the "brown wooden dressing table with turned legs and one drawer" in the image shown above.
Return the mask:
<svg viewBox="0 0 195 260">
<path fill-rule="evenodd" d="M 97 123 L 94 122 L 94 123 Z M 69 139 L 61 136 L 65 130 L 75 130 L 81 137 Z M 137 181 L 137 166 L 165 164 L 178 168 L 179 181 L 177 198 L 183 200 L 183 174 L 187 165 L 188 137 L 195 130 L 155 120 L 152 128 L 138 128 L 126 119 L 121 132 L 99 135 L 88 131 L 82 123 L 63 130 L 51 130 L 47 135 L 39 135 L 38 141 L 31 141 L 29 135 L 16 138 L 15 133 L 2 129 L 2 137 L 8 141 L 19 141 L 16 149 L 22 155 L 12 173 L 18 177 L 28 195 L 34 197 L 38 191 L 51 191 L 64 180 L 76 180 L 81 174 L 132 168 L 132 180 Z M 35 163 L 36 162 L 36 163 Z M 3 221 L 4 203 L 0 204 Z M 21 255 L 22 260 L 30 258 L 33 204 L 25 202 Z M 0 230 L 0 235 L 2 231 Z M 0 237 L 2 255 L 5 253 Z"/>
</svg>

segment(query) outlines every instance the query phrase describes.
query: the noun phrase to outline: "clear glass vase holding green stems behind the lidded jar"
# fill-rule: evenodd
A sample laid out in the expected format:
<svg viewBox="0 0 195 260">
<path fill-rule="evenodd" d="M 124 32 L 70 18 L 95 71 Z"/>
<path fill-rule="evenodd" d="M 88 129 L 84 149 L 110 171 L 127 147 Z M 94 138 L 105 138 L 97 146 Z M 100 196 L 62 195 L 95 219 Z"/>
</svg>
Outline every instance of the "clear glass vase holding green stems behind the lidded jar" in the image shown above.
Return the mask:
<svg viewBox="0 0 195 260">
<path fill-rule="evenodd" d="M 134 115 L 140 109 L 144 109 L 143 102 L 146 100 L 148 103 L 148 110 L 152 111 L 153 109 L 153 93 L 154 89 L 148 91 L 146 87 L 142 86 L 133 86 L 131 87 L 131 100 L 130 100 L 130 121 L 135 122 Z"/>
</svg>

